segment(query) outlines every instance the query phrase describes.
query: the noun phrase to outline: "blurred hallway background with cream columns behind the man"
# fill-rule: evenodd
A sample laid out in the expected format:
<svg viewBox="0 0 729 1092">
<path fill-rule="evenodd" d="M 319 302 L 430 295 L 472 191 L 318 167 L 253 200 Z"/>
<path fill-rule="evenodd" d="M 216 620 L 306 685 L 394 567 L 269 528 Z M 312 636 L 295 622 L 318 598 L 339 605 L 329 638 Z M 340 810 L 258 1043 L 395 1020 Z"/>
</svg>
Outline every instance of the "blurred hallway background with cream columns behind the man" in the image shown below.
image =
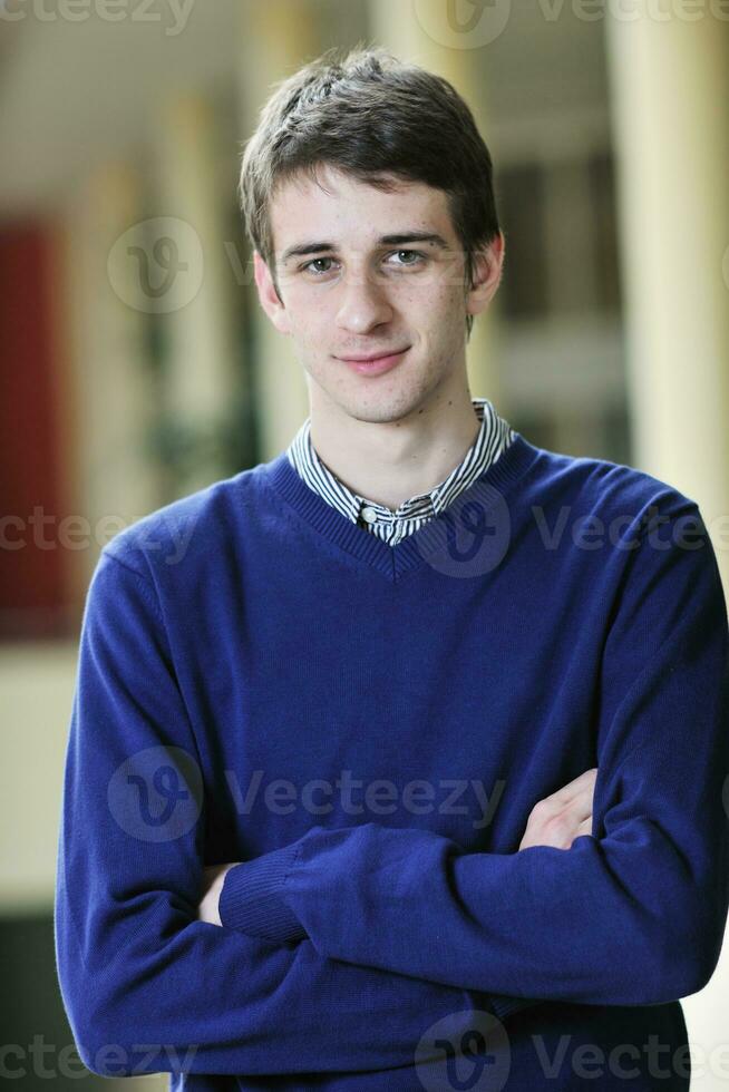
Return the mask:
<svg viewBox="0 0 729 1092">
<path fill-rule="evenodd" d="M 23 1090 L 85 1073 L 52 897 L 86 587 L 120 528 L 308 415 L 240 154 L 275 81 L 360 42 L 447 77 L 495 160 L 506 271 L 472 393 L 694 498 L 729 579 L 729 4 L 0 0 L 0 1069 Z M 683 1003 L 692 1089 L 729 1082 L 728 1003 L 722 953 Z"/>
</svg>

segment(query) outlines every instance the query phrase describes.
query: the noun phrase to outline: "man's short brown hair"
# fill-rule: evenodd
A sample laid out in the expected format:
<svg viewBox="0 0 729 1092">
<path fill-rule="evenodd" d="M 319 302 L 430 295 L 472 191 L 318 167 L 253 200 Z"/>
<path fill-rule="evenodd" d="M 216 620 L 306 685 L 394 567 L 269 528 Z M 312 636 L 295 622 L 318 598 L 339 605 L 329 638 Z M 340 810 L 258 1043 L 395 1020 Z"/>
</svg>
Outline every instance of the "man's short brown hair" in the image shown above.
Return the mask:
<svg viewBox="0 0 729 1092">
<path fill-rule="evenodd" d="M 274 285 L 270 202 L 301 170 L 317 181 L 323 164 L 383 191 L 388 175 L 444 191 L 473 286 L 474 254 L 499 225 L 490 154 L 451 84 L 381 47 L 358 46 L 344 56 L 334 47 L 275 85 L 239 186 L 246 231 Z M 468 335 L 473 321 L 466 316 Z"/>
</svg>

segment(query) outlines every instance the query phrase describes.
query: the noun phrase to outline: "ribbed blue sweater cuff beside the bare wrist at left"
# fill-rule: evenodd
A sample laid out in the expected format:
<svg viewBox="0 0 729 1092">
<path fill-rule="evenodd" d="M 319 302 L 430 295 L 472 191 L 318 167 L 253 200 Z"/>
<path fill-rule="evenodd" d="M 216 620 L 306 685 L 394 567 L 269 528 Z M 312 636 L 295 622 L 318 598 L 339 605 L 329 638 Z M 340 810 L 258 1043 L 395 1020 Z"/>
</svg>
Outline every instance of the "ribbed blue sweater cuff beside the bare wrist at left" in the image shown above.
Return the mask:
<svg viewBox="0 0 729 1092">
<path fill-rule="evenodd" d="M 298 842 L 292 842 L 229 868 L 218 899 L 224 928 L 279 943 L 301 940 L 307 936 L 299 918 L 282 898 L 286 876 L 300 848 Z"/>
</svg>

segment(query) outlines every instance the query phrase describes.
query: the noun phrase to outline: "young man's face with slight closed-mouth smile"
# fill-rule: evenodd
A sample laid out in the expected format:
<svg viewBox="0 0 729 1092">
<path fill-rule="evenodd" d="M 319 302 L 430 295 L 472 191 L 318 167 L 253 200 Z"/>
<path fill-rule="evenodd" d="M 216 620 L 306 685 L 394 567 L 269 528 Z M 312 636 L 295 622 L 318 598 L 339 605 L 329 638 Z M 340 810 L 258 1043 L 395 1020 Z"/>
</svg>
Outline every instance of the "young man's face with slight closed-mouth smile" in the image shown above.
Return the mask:
<svg viewBox="0 0 729 1092">
<path fill-rule="evenodd" d="M 395 421 L 454 381 L 466 388 L 466 313 L 496 290 L 499 244 L 486 287 L 468 293 L 443 191 L 398 182 L 383 192 L 331 167 L 318 176 L 321 186 L 297 175 L 271 203 L 281 302 L 271 271 L 254 259 L 261 303 L 293 338 L 312 406 Z M 367 371 L 347 362 L 393 353 L 401 355 L 389 367 Z"/>
</svg>

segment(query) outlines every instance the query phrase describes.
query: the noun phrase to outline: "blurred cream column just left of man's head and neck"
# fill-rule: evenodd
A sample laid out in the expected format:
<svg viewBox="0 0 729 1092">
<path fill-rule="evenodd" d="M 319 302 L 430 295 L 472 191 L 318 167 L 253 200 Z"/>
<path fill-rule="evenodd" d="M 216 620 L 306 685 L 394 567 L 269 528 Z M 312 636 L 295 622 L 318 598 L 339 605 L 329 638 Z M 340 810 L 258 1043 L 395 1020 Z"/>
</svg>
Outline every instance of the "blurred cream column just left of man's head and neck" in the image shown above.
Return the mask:
<svg viewBox="0 0 729 1092">
<path fill-rule="evenodd" d="M 240 119 L 242 143 L 252 136 L 259 113 L 273 84 L 291 76 L 320 52 L 318 27 L 312 8 L 297 0 L 244 0 L 241 11 Z M 242 227 L 242 234 L 244 228 Z M 243 242 L 249 254 L 247 240 Z M 256 292 L 252 257 L 250 291 Z M 294 432 L 309 416 L 309 393 L 303 365 L 293 342 L 279 333 L 254 301 L 252 322 L 255 343 L 255 397 L 261 437 L 261 458 L 268 460 L 289 446 Z"/>
</svg>

